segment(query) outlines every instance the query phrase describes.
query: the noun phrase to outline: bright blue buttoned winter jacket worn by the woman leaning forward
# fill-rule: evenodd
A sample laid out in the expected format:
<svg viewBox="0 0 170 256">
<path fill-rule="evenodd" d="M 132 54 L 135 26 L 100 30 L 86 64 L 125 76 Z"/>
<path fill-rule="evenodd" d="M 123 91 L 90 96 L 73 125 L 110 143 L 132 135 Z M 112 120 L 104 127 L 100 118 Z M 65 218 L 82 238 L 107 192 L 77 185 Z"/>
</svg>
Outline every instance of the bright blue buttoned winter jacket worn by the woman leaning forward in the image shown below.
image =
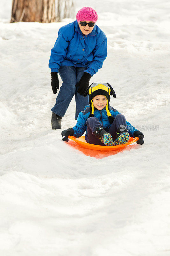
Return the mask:
<svg viewBox="0 0 170 256">
<path fill-rule="evenodd" d="M 59 29 L 58 37 L 49 60 L 51 72 L 60 66 L 87 67 L 93 76 L 107 57 L 107 39 L 103 31 L 94 26 L 89 35 L 83 36 L 77 20 Z"/>
</svg>

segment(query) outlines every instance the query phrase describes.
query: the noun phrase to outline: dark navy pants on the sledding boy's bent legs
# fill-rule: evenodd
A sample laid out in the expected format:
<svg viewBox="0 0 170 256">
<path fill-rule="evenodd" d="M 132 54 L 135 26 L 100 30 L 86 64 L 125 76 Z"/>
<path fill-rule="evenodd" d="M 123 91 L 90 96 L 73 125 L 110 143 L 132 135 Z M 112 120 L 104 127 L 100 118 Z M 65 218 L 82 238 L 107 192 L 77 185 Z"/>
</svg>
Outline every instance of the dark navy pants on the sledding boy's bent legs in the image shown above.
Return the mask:
<svg viewBox="0 0 170 256">
<path fill-rule="evenodd" d="M 95 135 L 93 135 L 97 127 L 102 127 L 102 124 L 99 122 L 99 120 L 96 117 L 89 117 L 86 121 L 86 124 L 88 133 L 86 141 L 90 144 L 105 146 L 103 142 L 101 142 L 99 139 L 96 138 Z M 115 120 L 113 121 L 113 124 L 110 126 L 110 128 L 103 127 L 106 132 L 109 132 L 111 134 L 113 141 L 116 140 L 117 129 L 120 127 L 121 124 L 126 127 L 126 119 L 124 115 L 118 114 L 115 117 Z"/>
</svg>

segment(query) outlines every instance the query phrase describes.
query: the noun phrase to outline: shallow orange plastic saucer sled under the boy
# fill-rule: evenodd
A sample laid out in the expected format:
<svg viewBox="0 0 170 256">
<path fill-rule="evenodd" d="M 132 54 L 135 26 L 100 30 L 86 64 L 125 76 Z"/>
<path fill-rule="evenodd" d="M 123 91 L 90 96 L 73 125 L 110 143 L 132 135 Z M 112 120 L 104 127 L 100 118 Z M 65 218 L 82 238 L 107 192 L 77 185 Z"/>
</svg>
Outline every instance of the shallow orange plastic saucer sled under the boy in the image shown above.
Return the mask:
<svg viewBox="0 0 170 256">
<path fill-rule="evenodd" d="M 94 144 L 90 144 L 87 143 L 85 140 L 85 136 L 81 136 L 80 138 L 75 138 L 74 136 L 68 136 L 68 138 L 70 140 L 74 140 L 78 145 L 80 145 L 83 148 L 89 148 L 89 149 L 93 149 L 93 150 L 117 150 L 117 149 L 121 149 L 124 148 L 132 143 L 134 143 L 135 141 L 137 141 L 139 138 L 138 137 L 130 137 L 129 141 L 125 144 L 122 145 L 118 145 L 118 146 L 99 146 L 99 145 L 94 145 Z"/>
</svg>

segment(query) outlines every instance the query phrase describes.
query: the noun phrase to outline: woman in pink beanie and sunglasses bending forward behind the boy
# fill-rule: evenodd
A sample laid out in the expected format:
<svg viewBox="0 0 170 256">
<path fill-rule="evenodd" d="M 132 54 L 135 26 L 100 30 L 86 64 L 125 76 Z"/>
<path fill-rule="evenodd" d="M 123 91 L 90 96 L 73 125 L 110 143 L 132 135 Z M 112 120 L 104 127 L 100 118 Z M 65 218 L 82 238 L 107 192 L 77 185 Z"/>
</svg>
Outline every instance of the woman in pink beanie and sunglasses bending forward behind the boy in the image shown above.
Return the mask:
<svg viewBox="0 0 170 256">
<path fill-rule="evenodd" d="M 53 93 L 59 89 L 58 73 L 63 81 L 56 103 L 51 109 L 52 129 L 61 128 L 61 118 L 75 94 L 75 119 L 89 105 L 89 97 L 83 97 L 90 78 L 102 68 L 107 56 L 107 39 L 96 26 L 97 13 L 90 7 L 78 11 L 76 20 L 59 29 L 58 38 L 51 50 L 51 86 Z"/>
</svg>

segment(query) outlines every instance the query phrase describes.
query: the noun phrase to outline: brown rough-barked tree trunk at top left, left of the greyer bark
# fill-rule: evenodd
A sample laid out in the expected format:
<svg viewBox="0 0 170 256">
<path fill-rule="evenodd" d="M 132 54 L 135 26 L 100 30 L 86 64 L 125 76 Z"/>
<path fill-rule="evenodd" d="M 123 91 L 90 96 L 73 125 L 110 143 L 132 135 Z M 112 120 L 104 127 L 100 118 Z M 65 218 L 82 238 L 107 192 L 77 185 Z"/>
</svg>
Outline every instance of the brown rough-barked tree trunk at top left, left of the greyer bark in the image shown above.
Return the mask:
<svg viewBox="0 0 170 256">
<path fill-rule="evenodd" d="M 11 22 L 55 22 L 55 0 L 13 0 Z"/>
</svg>

